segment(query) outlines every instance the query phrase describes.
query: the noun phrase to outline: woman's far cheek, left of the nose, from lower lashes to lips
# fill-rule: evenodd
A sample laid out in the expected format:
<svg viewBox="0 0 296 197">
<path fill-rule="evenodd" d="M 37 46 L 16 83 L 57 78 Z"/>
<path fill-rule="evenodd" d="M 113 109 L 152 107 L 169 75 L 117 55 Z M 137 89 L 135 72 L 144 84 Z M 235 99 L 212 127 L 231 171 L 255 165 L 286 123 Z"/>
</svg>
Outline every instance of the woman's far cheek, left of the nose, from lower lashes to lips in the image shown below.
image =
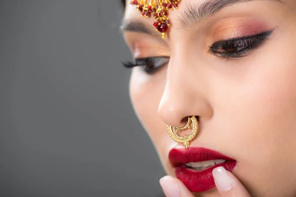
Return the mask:
<svg viewBox="0 0 296 197">
<path fill-rule="evenodd" d="M 147 131 L 166 172 L 174 175 L 169 161 L 168 147 L 172 139 L 167 134 L 166 124 L 160 119 L 157 111 L 166 80 L 166 67 L 153 75 L 147 75 L 134 68 L 130 80 L 130 97 L 134 110 Z"/>
</svg>

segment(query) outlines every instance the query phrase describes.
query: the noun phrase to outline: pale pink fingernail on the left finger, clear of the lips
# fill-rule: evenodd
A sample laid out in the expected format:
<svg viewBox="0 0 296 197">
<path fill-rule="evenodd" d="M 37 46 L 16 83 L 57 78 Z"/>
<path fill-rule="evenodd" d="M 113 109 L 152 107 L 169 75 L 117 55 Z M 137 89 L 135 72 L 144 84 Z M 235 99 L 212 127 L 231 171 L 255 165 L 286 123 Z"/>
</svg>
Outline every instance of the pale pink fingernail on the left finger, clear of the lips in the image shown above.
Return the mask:
<svg viewBox="0 0 296 197">
<path fill-rule="evenodd" d="M 162 177 L 159 183 L 166 197 L 180 197 L 179 185 L 171 176 Z"/>
</svg>

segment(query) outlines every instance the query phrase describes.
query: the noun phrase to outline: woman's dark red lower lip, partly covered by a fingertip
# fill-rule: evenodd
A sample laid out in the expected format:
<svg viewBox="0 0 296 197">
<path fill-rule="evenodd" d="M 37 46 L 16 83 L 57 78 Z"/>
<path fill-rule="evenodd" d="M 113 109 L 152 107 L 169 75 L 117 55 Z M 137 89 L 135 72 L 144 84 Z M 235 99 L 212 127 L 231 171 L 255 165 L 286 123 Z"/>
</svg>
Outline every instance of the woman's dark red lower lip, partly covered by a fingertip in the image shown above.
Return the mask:
<svg viewBox="0 0 296 197">
<path fill-rule="evenodd" d="M 175 167 L 176 176 L 180 179 L 191 192 L 205 192 L 215 188 L 213 177 L 213 169 L 216 167 L 224 167 L 228 171 L 232 171 L 236 165 L 236 161 L 228 161 L 222 164 L 213 165 L 202 171 L 188 168 L 185 165 Z"/>
</svg>

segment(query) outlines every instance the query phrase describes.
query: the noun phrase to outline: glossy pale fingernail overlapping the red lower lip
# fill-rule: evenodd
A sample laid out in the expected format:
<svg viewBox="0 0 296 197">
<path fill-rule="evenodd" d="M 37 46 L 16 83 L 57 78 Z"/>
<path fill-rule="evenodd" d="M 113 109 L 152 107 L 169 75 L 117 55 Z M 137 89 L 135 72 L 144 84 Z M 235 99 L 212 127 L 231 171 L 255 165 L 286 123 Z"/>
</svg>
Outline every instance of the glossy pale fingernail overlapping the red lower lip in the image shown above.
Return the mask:
<svg viewBox="0 0 296 197">
<path fill-rule="evenodd" d="M 222 191 L 228 191 L 232 187 L 232 179 L 228 175 L 224 167 L 216 167 L 213 169 L 213 176 L 217 187 Z"/>
</svg>

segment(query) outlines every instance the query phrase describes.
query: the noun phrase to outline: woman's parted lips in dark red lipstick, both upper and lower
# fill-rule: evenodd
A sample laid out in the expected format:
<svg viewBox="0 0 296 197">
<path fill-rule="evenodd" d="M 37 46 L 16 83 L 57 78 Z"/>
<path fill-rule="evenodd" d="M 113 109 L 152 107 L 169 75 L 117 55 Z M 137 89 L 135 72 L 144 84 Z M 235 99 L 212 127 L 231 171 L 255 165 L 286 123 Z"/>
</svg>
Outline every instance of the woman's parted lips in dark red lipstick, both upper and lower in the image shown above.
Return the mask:
<svg viewBox="0 0 296 197">
<path fill-rule="evenodd" d="M 236 165 L 235 160 L 217 151 L 197 147 L 172 149 L 169 153 L 169 160 L 175 168 L 177 178 L 179 178 L 191 192 L 205 192 L 215 187 L 212 174 L 214 168 L 222 166 L 231 172 Z M 185 164 L 190 162 L 210 160 L 226 160 L 226 162 L 215 164 L 202 171 L 197 171 L 185 166 Z"/>
</svg>

